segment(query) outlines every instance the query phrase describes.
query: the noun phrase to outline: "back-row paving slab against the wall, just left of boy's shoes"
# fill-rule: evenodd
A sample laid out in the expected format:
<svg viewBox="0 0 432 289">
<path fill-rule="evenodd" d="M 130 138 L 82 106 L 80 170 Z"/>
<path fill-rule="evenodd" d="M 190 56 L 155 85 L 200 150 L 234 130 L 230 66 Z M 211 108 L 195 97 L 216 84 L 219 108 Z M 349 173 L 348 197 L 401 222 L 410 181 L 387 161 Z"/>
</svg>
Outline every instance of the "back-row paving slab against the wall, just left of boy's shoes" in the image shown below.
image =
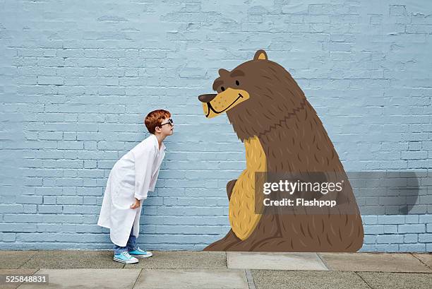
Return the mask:
<svg viewBox="0 0 432 289">
<path fill-rule="evenodd" d="M 110 251 L 37 251 L 22 269 L 120 269 L 124 264 L 113 260 Z"/>
</svg>

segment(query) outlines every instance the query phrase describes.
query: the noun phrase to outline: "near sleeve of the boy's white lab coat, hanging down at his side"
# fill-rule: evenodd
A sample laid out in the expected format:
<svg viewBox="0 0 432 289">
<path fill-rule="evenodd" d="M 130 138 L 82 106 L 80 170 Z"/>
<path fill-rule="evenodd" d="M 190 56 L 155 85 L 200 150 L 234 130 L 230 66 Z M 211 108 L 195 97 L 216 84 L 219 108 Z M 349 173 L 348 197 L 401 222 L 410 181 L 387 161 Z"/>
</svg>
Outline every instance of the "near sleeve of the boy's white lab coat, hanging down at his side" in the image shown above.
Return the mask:
<svg viewBox="0 0 432 289">
<path fill-rule="evenodd" d="M 153 148 L 145 148 L 134 153 L 135 158 L 135 193 L 138 200 L 147 199 L 152 179 L 152 167 L 156 159 Z"/>
</svg>

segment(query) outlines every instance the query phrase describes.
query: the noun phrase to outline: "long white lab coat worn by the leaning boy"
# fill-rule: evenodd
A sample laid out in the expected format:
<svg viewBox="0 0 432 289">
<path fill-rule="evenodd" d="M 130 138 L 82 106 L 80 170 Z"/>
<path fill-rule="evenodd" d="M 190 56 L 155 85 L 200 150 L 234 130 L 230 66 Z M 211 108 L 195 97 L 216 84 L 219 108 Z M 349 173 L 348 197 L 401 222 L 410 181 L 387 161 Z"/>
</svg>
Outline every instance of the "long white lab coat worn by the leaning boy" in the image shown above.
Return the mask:
<svg viewBox="0 0 432 289">
<path fill-rule="evenodd" d="M 150 134 L 117 160 L 109 172 L 97 225 L 110 229 L 109 237 L 114 244 L 126 246 L 132 225 L 133 235 L 138 237 L 143 201 L 138 208 L 131 206 L 135 198 L 144 200 L 148 191 L 155 190 L 164 155 L 164 143 L 159 149 L 156 136 Z"/>
</svg>

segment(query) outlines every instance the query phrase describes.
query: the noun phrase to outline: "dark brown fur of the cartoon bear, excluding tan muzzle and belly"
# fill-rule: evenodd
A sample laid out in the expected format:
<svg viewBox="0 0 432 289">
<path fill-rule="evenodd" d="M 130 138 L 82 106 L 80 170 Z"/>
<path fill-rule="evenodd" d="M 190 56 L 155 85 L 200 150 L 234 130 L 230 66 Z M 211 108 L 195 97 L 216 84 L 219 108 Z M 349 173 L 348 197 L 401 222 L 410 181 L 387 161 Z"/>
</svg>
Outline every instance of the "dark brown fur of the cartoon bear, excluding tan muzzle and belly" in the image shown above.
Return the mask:
<svg viewBox="0 0 432 289">
<path fill-rule="evenodd" d="M 348 192 L 339 201 L 351 213 L 263 214 L 256 229 L 244 241 L 232 230 L 206 251 L 263 252 L 356 252 L 363 244 L 363 225 L 352 188 L 332 141 L 316 111 L 294 78 L 280 64 L 258 59 L 233 71 L 243 71 L 240 88 L 250 99 L 227 110 L 229 122 L 241 141 L 258 136 L 267 159 L 268 172 L 339 172 Z M 227 87 L 236 88 L 236 78 L 220 70 Z M 220 88 L 214 87 L 220 93 Z M 202 100 L 203 101 L 203 100 Z M 236 180 L 227 184 L 228 198 Z"/>
</svg>

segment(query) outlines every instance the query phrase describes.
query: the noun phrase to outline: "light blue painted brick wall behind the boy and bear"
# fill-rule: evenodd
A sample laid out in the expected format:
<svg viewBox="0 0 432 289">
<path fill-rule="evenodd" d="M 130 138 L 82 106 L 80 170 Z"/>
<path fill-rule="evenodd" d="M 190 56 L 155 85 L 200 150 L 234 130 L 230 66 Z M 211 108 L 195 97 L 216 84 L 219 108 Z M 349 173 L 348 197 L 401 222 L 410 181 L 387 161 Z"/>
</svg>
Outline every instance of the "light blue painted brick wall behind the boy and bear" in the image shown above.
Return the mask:
<svg viewBox="0 0 432 289">
<path fill-rule="evenodd" d="M 245 165 L 226 116 L 197 96 L 265 49 L 304 89 L 347 171 L 431 167 L 432 2 L 0 0 L 0 249 L 110 249 L 96 225 L 109 170 L 176 133 L 139 241 L 202 249 L 229 230 Z M 432 208 L 364 216 L 363 251 L 432 251 Z"/>
</svg>

